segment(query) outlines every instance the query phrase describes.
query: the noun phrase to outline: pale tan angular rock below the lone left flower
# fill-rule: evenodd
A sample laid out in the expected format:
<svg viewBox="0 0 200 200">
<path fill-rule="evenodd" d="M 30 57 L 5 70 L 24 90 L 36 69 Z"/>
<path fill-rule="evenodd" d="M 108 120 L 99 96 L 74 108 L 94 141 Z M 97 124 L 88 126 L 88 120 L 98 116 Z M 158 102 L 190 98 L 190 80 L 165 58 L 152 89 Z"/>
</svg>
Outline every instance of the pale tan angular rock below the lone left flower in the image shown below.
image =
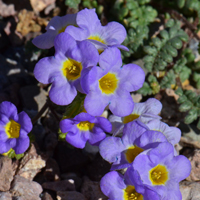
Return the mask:
<svg viewBox="0 0 200 200">
<path fill-rule="evenodd" d="M 34 144 L 22 158 L 17 175 L 30 181 L 46 166 L 46 158 L 37 154 Z"/>
</svg>

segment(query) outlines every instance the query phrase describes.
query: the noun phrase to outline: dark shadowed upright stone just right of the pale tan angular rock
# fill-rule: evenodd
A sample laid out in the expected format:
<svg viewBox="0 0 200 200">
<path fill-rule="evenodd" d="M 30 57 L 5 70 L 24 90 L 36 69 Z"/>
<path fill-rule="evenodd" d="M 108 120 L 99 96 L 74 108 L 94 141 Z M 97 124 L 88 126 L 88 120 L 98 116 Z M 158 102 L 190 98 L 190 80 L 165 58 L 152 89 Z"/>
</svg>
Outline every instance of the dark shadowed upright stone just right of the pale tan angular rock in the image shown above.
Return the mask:
<svg viewBox="0 0 200 200">
<path fill-rule="evenodd" d="M 53 158 L 49 158 L 46 162 L 46 167 L 44 170 L 45 179 L 48 181 L 58 181 L 60 180 L 60 169 L 59 166 Z"/>
</svg>

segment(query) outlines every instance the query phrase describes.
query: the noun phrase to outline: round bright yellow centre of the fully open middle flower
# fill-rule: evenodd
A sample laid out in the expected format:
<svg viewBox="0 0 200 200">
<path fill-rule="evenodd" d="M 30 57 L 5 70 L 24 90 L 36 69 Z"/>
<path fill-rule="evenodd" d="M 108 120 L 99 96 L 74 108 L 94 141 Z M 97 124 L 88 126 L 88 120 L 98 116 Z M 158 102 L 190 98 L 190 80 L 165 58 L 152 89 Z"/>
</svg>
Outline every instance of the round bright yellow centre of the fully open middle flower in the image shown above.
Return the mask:
<svg viewBox="0 0 200 200">
<path fill-rule="evenodd" d="M 99 87 L 105 94 L 113 94 L 117 89 L 117 84 L 117 76 L 112 73 L 107 73 L 99 80 Z"/>
</svg>

